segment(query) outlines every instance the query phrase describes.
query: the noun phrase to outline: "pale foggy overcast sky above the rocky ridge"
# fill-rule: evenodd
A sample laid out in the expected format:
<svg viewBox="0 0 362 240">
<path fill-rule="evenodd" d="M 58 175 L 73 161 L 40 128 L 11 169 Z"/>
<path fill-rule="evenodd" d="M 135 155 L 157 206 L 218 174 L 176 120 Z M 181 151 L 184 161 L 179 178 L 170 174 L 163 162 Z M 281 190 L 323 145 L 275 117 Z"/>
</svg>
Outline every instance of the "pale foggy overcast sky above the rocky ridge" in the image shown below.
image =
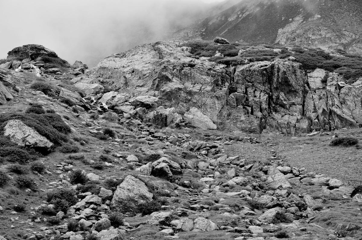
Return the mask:
<svg viewBox="0 0 362 240">
<path fill-rule="evenodd" d="M 0 0 L 0 59 L 41 44 L 94 66 L 111 53 L 164 40 L 223 0 Z"/>
</svg>

